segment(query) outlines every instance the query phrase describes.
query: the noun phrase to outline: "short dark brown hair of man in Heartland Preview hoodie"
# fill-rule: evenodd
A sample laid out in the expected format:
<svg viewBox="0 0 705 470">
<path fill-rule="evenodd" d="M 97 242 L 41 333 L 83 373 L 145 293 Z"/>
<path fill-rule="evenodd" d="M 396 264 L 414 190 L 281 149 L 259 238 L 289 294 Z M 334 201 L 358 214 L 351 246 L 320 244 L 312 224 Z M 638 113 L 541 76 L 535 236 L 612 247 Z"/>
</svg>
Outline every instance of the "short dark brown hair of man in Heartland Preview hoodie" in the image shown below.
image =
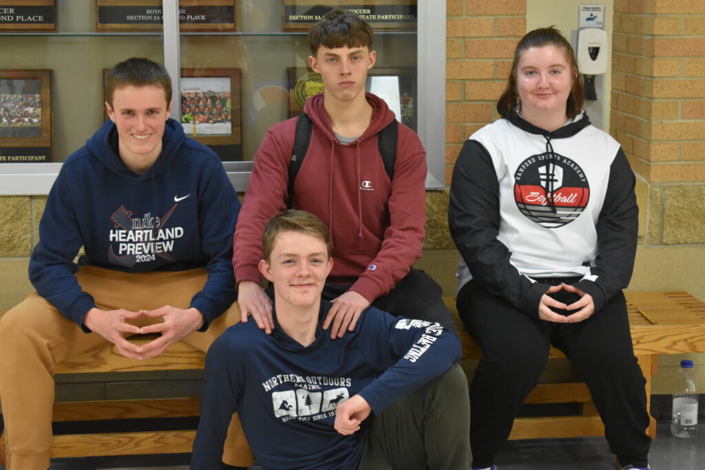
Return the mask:
<svg viewBox="0 0 705 470">
<path fill-rule="evenodd" d="M 113 106 L 113 96 L 119 87 L 154 85 L 164 89 L 168 106 L 171 101 L 171 78 L 164 66 L 148 58 L 131 57 L 110 69 L 105 79 L 105 99 Z"/>
</svg>

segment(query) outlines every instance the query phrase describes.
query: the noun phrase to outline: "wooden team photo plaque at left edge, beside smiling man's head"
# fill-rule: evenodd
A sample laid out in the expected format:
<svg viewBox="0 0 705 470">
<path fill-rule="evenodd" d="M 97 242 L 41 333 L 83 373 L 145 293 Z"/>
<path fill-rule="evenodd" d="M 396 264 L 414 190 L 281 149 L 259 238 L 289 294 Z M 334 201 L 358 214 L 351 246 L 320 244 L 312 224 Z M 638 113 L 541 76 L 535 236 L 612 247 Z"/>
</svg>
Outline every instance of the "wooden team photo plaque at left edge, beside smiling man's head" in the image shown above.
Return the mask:
<svg viewBox="0 0 705 470">
<path fill-rule="evenodd" d="M 51 70 L 0 70 L 0 163 L 51 161 Z"/>
</svg>

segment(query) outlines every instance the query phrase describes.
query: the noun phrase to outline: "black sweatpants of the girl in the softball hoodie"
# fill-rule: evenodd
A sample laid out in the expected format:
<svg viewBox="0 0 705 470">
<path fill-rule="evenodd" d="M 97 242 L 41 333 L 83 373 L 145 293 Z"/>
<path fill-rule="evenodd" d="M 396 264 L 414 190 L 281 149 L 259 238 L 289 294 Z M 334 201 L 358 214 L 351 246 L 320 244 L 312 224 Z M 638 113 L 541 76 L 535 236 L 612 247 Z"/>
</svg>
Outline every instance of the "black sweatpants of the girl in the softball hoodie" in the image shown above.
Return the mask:
<svg viewBox="0 0 705 470">
<path fill-rule="evenodd" d="M 561 281 L 575 279 L 540 280 L 550 285 Z M 580 298 L 564 290 L 553 297 L 565 304 Z M 471 280 L 458 294 L 458 312 L 482 349 L 470 385 L 472 466 L 494 463 L 522 403 L 546 368 L 551 345 L 582 373 L 620 464 L 646 466 L 651 444 L 645 433 L 646 380 L 634 356 L 621 291 L 587 320 L 553 323 L 522 313 Z"/>
</svg>

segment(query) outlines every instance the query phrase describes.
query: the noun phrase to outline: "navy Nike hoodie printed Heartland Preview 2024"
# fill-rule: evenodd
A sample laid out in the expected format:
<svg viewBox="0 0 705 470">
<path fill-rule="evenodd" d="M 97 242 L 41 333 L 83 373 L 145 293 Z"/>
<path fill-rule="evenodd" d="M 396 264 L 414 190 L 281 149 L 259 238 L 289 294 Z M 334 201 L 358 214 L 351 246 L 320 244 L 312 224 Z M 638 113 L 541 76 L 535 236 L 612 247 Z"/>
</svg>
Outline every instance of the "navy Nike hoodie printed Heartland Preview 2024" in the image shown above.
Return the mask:
<svg viewBox="0 0 705 470">
<path fill-rule="evenodd" d="M 85 331 L 96 307 L 73 274 L 91 265 L 128 273 L 206 266 L 208 280 L 190 307 L 213 319 L 235 300 L 232 237 L 240 202 L 213 151 L 166 121 L 162 150 L 142 175 L 118 156 L 115 124 L 103 127 L 61 166 L 39 223 L 30 280 Z M 78 264 L 80 247 L 85 254 Z"/>
</svg>

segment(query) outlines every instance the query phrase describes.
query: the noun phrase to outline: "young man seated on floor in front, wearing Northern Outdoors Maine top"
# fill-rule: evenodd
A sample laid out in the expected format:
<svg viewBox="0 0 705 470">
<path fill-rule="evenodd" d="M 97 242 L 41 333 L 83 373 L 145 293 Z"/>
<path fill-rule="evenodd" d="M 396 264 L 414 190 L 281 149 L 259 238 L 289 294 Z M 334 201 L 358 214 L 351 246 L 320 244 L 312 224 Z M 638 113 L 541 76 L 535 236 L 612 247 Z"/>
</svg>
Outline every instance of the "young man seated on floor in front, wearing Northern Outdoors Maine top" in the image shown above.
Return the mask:
<svg viewBox="0 0 705 470">
<path fill-rule="evenodd" d="M 191 469 L 218 468 L 236 410 L 264 469 L 469 469 L 458 335 L 369 307 L 332 340 L 323 326 L 332 304 L 321 299 L 334 266 L 326 225 L 288 210 L 261 240 L 276 328 L 238 323 L 213 343 Z"/>
</svg>

